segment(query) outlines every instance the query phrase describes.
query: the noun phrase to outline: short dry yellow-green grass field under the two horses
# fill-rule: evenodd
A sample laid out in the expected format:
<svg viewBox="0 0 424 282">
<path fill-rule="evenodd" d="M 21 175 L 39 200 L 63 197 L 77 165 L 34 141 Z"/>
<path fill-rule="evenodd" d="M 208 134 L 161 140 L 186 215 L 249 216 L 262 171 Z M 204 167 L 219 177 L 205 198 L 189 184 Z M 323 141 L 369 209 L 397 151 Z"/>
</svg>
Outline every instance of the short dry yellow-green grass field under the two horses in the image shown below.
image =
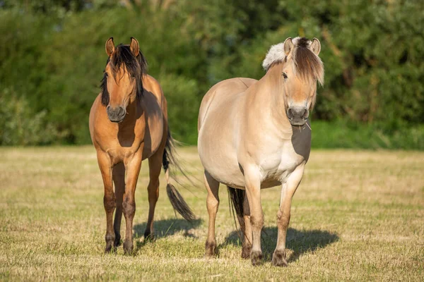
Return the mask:
<svg viewBox="0 0 424 282">
<path fill-rule="evenodd" d="M 201 178 L 196 148 L 179 149 Z M 279 188 L 263 190 L 264 264 L 241 246 L 220 190 L 218 255 L 203 259 L 206 191 L 180 189 L 199 219 L 175 217 L 164 190 L 153 242 L 143 241 L 148 166 L 136 192 L 134 255 L 103 255 L 103 188 L 93 147 L 0 148 L 2 281 L 423 281 L 424 153 L 314 150 L 295 194 L 286 268 L 271 265 Z M 122 224 L 122 228 L 124 224 Z M 124 230 L 122 230 L 122 234 Z"/>
</svg>

